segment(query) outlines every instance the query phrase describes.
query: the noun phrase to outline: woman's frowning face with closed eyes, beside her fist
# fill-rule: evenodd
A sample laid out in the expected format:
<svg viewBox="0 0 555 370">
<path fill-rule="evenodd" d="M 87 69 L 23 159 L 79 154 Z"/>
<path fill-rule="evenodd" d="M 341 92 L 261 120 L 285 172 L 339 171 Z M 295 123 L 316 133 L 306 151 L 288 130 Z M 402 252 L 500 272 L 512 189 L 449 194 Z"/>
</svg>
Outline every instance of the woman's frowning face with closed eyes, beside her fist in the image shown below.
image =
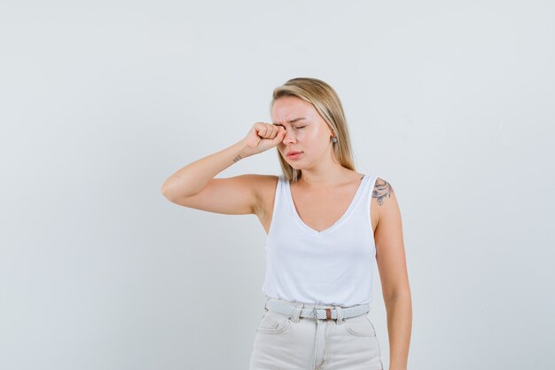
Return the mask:
<svg viewBox="0 0 555 370">
<path fill-rule="evenodd" d="M 331 154 L 332 130 L 309 102 L 296 97 L 278 98 L 272 106 L 271 119 L 273 124 L 285 128 L 285 137 L 277 149 L 294 169 L 306 168 Z M 293 152 L 301 154 L 289 155 Z"/>
</svg>

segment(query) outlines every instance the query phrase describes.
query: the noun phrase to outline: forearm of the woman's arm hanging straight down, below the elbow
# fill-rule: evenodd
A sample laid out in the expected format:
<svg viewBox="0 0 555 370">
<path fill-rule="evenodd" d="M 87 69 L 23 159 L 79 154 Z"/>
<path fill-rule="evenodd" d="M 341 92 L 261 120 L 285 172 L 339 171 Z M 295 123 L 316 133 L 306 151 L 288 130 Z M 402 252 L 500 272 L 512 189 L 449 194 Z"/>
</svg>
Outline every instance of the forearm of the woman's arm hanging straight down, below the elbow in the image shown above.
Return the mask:
<svg viewBox="0 0 555 370">
<path fill-rule="evenodd" d="M 389 370 L 406 370 L 409 358 L 412 304 L 410 293 L 386 301 Z"/>
</svg>

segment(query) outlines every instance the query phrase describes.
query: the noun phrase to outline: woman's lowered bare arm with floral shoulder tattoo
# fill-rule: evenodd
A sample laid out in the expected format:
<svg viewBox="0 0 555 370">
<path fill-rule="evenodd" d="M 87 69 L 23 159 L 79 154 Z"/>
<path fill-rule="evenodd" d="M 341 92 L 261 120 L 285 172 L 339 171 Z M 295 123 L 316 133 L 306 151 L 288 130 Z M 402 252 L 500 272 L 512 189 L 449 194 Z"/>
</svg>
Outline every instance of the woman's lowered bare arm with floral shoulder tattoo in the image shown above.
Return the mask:
<svg viewBox="0 0 555 370">
<path fill-rule="evenodd" d="M 412 304 L 403 244 L 401 212 L 387 181 L 378 178 L 372 192 L 372 207 L 379 221 L 374 232 L 376 263 L 387 310 L 389 370 L 407 370 Z"/>
</svg>

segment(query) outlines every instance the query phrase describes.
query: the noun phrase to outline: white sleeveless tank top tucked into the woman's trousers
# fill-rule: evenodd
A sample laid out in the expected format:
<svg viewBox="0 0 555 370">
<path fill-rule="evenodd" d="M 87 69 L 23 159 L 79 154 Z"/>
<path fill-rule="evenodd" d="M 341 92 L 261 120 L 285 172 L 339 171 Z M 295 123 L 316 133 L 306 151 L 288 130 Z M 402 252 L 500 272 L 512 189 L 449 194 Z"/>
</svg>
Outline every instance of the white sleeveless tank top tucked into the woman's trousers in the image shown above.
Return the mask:
<svg viewBox="0 0 555 370">
<path fill-rule="evenodd" d="M 302 221 L 289 181 L 279 176 L 266 240 L 262 293 L 322 305 L 372 302 L 376 246 L 370 204 L 376 178 L 364 175 L 345 213 L 318 232 Z"/>
</svg>

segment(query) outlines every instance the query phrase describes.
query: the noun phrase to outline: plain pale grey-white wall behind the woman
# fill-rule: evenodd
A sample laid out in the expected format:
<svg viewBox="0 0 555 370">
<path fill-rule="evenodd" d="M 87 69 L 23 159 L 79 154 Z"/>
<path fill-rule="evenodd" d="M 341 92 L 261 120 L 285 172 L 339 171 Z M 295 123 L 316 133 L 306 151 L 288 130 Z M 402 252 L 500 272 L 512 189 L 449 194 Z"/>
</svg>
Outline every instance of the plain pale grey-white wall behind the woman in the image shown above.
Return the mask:
<svg viewBox="0 0 555 370">
<path fill-rule="evenodd" d="M 0 368 L 246 369 L 262 225 L 160 186 L 299 76 L 332 85 L 357 170 L 394 186 L 409 369 L 555 368 L 554 65 L 547 0 L 4 0 Z M 218 177 L 243 173 L 279 174 L 276 150 Z"/>
</svg>

